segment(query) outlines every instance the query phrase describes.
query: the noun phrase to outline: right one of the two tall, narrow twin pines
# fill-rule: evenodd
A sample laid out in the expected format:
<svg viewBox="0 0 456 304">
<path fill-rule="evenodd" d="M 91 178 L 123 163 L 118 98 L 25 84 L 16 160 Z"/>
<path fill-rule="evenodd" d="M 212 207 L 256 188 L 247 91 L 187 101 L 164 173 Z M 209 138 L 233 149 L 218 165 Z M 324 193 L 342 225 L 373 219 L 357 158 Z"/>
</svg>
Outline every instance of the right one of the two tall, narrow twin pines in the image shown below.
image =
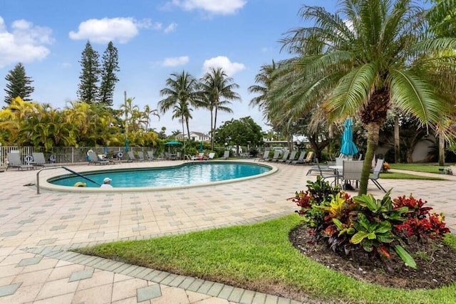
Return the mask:
<svg viewBox="0 0 456 304">
<path fill-rule="evenodd" d="M 115 72 L 120 70 L 118 63 L 118 51 L 113 45 L 113 42 L 108 43 L 108 47 L 103 53 L 103 70 L 101 70 L 101 84 L 100 84 L 100 103 L 107 106 L 113 105 L 113 95 L 115 83 L 119 80 Z"/>
</svg>

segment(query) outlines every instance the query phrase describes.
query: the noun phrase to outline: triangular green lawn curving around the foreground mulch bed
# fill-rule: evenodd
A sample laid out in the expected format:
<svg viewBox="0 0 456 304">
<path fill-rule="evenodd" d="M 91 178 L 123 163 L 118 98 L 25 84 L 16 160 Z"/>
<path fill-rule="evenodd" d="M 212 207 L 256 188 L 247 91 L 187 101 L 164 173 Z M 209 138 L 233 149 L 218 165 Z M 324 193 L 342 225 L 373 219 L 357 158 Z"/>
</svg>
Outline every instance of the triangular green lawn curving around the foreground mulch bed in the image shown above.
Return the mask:
<svg viewBox="0 0 456 304">
<path fill-rule="evenodd" d="M 259 224 L 77 251 L 263 293 L 287 290 L 296 300 L 308 295 L 341 303 L 454 303 L 456 284 L 435 290 L 386 288 L 356 281 L 307 258 L 288 239 L 289 231 L 301 221 L 293 214 Z M 455 245 L 455 236 L 448 238 Z"/>
</svg>

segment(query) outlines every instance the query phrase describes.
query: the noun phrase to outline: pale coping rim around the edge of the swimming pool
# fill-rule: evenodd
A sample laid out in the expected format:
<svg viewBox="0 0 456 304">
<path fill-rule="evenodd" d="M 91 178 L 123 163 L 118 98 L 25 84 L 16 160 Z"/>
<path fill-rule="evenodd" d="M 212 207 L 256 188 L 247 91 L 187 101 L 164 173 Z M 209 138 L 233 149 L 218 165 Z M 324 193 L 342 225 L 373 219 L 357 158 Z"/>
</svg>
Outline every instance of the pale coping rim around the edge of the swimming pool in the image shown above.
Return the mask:
<svg viewBox="0 0 456 304">
<path fill-rule="evenodd" d="M 192 161 L 193 163 L 198 163 L 197 161 Z M 211 161 L 211 163 L 214 163 L 214 162 L 234 162 L 234 163 L 241 163 L 241 164 L 252 164 L 254 162 L 252 161 L 242 161 L 242 160 L 239 160 L 239 159 L 236 159 L 236 160 L 214 160 L 214 161 Z M 155 164 L 157 164 L 155 162 Z M 165 164 L 163 166 L 155 166 L 154 168 L 160 168 L 160 169 L 163 169 L 163 168 L 172 168 L 172 167 L 180 167 L 180 166 L 183 166 L 185 164 L 189 164 L 189 162 L 185 162 L 185 161 L 182 161 L 180 162 L 179 164 L 173 164 L 173 165 L 169 165 L 169 164 Z M 252 175 L 250 177 L 240 177 L 240 178 L 237 178 L 237 179 L 227 179 L 227 180 L 224 180 L 224 181 L 217 181 L 217 182 L 207 182 L 207 183 L 198 183 L 198 184 L 186 184 L 186 185 L 182 185 L 182 186 L 170 186 L 170 187 L 113 187 L 113 188 L 95 188 L 95 187 L 68 187 L 68 186 L 59 186 L 59 185 L 56 185 L 56 184 L 51 184 L 48 182 L 49 179 L 53 179 L 53 178 L 56 178 L 58 176 L 61 176 L 62 174 L 61 173 L 55 173 L 55 174 L 50 174 L 49 176 L 46 176 L 46 177 L 42 177 L 43 180 L 40 179 L 39 183 L 38 183 L 38 174 L 41 172 L 41 169 L 37 174 L 37 183 L 36 184 L 39 184 L 39 189 L 37 189 L 37 191 L 39 192 L 41 189 L 43 190 L 49 190 L 49 191 L 56 191 L 56 192 L 77 192 L 77 193 L 113 193 L 113 192 L 155 192 L 155 191 L 167 191 L 167 190 L 176 190 L 176 189 L 188 189 L 188 188 L 197 188 L 197 187 L 207 187 L 207 186 L 215 186 L 215 185 L 218 185 L 218 184 L 230 184 L 230 183 L 235 183 L 235 182 L 244 182 L 246 180 L 250 180 L 250 179 L 259 179 L 261 177 L 267 177 L 271 174 L 274 174 L 276 173 L 279 169 L 271 164 L 264 164 L 264 163 L 259 163 L 257 162 L 256 163 L 257 165 L 259 166 L 263 166 L 263 167 L 269 167 L 271 168 L 271 170 L 269 170 L 268 172 L 264 172 L 264 173 L 261 173 L 261 174 L 256 174 L 256 175 Z M 118 170 L 134 170 L 134 169 L 147 169 L 147 168 L 151 168 L 151 167 L 135 167 L 135 168 L 127 168 L 127 167 L 123 167 L 123 168 L 116 168 L 116 169 L 113 169 L 113 168 L 110 168 L 110 169 L 99 169 L 99 170 L 90 170 L 90 171 L 84 171 L 84 172 L 78 172 L 78 173 L 87 173 L 87 172 L 90 172 L 90 173 L 93 173 L 93 172 L 98 172 L 98 173 L 103 173 L 103 172 L 112 172 L 112 171 L 118 171 Z"/>
</svg>

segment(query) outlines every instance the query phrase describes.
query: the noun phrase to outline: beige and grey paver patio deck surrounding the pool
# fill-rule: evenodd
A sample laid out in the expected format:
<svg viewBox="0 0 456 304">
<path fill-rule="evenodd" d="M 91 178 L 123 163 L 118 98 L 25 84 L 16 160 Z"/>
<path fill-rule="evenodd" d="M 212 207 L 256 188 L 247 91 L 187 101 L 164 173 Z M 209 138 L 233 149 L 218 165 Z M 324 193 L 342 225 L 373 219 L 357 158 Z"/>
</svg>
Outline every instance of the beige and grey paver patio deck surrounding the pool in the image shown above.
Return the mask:
<svg viewBox="0 0 456 304">
<path fill-rule="evenodd" d="M 142 162 L 94 167 L 147 167 Z M 296 210 L 286 198 L 305 189 L 308 167 L 273 164 L 261 179 L 155 192 L 70 193 L 24 186 L 37 171 L 0 173 L 0 303 L 299 303 L 276 295 L 130 266 L 67 251 L 120 239 L 145 239 L 264 221 Z M 59 169 L 52 174 L 66 172 Z M 42 172 L 43 177 L 51 174 Z M 456 231 L 456 177 L 446 181 L 381 179 L 393 196 L 429 201 Z M 369 192 L 383 196 L 373 184 Z M 355 193 L 355 192 L 353 192 Z M 179 204 L 176 204 L 179 203 Z M 261 213 L 258 206 L 261 205 Z"/>
</svg>

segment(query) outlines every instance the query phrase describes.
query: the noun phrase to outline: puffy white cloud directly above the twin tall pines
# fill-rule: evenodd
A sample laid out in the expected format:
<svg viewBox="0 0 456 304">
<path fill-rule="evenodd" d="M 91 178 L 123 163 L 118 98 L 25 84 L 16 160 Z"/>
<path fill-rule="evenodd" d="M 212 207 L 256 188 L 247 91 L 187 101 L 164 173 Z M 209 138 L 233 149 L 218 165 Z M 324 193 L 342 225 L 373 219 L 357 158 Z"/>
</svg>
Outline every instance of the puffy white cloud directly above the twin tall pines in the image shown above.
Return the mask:
<svg viewBox="0 0 456 304">
<path fill-rule="evenodd" d="M 70 31 L 68 36 L 73 40 L 89 40 L 93 43 L 117 41 L 127 43 L 139 33 L 140 28 L 162 28 L 161 23 L 152 23 L 150 19 L 135 20 L 133 18 L 89 19 L 78 26 L 78 31 Z"/>
</svg>

